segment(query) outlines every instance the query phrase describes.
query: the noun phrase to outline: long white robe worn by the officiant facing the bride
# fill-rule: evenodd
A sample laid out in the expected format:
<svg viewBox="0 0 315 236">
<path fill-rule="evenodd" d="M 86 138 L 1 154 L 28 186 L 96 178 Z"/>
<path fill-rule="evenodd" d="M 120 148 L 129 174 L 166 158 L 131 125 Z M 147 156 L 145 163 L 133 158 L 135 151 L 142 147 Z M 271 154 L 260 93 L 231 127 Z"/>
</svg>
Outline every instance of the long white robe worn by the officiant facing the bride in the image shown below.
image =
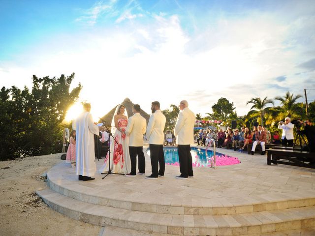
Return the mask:
<svg viewBox="0 0 315 236">
<path fill-rule="evenodd" d="M 82 113 L 76 119 L 76 167 L 77 175 L 94 176 L 96 172 L 94 134 L 98 127 L 89 112 Z"/>
</svg>

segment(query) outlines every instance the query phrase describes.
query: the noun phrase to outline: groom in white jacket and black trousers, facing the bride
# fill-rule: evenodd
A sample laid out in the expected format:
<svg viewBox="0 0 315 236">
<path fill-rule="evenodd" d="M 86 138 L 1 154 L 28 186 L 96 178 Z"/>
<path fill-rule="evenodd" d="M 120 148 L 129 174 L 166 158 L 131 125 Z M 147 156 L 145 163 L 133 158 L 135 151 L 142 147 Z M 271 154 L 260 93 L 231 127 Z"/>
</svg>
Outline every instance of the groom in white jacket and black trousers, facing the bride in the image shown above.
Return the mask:
<svg viewBox="0 0 315 236">
<path fill-rule="evenodd" d="M 146 160 L 143 153 L 143 134 L 146 132 L 147 121 L 140 115 L 140 105 L 134 104 L 132 107 L 133 116 L 129 118 L 126 127 L 126 135 L 129 136 L 129 155 L 131 160 L 131 172 L 127 177 L 136 176 L 137 154 L 138 170 L 140 175 L 145 174 Z"/>
</svg>

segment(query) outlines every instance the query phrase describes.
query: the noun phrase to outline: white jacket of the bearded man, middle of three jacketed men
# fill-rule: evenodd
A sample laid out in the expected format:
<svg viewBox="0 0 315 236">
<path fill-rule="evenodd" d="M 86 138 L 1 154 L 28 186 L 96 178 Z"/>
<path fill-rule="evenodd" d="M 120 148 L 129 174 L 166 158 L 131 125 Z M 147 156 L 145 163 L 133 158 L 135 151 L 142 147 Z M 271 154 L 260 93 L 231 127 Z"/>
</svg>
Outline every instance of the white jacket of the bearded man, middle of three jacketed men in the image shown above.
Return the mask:
<svg viewBox="0 0 315 236">
<path fill-rule="evenodd" d="M 166 118 L 161 110 L 155 111 L 155 113 L 150 116 L 147 127 L 147 139 L 149 140 L 149 144 L 163 145 L 165 122 Z"/>
</svg>

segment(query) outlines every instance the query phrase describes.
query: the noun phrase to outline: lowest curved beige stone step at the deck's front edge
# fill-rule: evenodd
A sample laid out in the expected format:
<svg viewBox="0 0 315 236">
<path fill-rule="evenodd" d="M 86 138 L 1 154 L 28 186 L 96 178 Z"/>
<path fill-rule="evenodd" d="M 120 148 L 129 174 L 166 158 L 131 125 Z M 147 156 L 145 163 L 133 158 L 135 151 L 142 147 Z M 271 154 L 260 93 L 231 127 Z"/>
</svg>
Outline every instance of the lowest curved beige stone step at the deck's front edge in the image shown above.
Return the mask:
<svg viewBox="0 0 315 236">
<path fill-rule="evenodd" d="M 230 236 L 315 227 L 315 207 L 298 207 L 233 215 L 183 215 L 140 212 L 81 202 L 51 189 L 38 191 L 45 203 L 71 218 L 147 233 Z"/>
</svg>

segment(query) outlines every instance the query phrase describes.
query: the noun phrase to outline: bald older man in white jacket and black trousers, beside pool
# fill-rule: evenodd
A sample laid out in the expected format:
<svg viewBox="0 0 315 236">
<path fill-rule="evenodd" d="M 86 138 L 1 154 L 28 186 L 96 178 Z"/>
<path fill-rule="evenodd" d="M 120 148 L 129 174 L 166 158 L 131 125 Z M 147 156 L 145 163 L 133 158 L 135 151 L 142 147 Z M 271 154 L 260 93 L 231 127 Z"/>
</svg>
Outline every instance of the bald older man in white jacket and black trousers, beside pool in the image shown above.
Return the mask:
<svg viewBox="0 0 315 236">
<path fill-rule="evenodd" d="M 195 114 L 189 110 L 188 102 L 180 102 L 181 112 L 175 124 L 174 135 L 178 145 L 179 168 L 181 175 L 176 178 L 187 179 L 193 177 L 192 157 L 190 153 L 190 144 L 193 144 L 193 126 L 195 124 Z"/>
</svg>

